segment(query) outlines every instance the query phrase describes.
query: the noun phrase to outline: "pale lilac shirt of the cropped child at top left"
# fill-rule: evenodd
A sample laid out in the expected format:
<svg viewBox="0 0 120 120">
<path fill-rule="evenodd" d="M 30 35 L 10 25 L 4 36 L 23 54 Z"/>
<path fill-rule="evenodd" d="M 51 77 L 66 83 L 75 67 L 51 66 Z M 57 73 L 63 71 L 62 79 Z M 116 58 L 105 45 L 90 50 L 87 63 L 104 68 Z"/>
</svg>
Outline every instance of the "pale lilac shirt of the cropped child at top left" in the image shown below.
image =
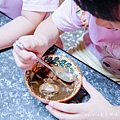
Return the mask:
<svg viewBox="0 0 120 120">
<path fill-rule="evenodd" d="M 21 10 L 51 12 L 59 6 L 59 0 L 0 0 L 0 11 L 11 18 L 21 15 Z"/>
</svg>

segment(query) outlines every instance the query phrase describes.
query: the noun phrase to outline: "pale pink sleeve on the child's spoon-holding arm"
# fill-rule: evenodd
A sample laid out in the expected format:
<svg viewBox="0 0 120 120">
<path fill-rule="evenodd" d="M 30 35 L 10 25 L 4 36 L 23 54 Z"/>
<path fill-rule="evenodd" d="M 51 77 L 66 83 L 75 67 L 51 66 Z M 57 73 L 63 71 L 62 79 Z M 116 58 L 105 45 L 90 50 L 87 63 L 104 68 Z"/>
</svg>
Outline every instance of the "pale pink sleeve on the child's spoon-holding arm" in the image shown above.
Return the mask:
<svg viewBox="0 0 120 120">
<path fill-rule="evenodd" d="M 73 31 L 83 26 L 75 9 L 73 0 L 65 0 L 52 14 L 54 24 L 62 31 Z"/>
</svg>

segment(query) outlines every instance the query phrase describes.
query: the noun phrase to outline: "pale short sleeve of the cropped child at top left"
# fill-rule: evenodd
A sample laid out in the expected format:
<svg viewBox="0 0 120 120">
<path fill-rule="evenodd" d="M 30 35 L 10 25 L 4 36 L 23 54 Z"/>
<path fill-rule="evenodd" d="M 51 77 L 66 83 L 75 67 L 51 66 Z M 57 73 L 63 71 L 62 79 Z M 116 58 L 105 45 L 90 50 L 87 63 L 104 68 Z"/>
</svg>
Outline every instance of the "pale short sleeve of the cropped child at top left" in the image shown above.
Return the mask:
<svg viewBox="0 0 120 120">
<path fill-rule="evenodd" d="M 23 0 L 23 10 L 52 12 L 59 6 L 59 0 Z"/>
</svg>

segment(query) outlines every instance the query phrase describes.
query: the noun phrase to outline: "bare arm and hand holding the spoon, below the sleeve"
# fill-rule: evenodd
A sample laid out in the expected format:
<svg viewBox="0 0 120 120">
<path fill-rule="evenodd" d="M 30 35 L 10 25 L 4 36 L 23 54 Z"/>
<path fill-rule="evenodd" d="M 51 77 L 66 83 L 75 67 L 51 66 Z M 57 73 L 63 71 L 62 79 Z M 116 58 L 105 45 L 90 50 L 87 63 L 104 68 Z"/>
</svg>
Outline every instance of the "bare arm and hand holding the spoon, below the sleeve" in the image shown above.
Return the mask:
<svg viewBox="0 0 120 120">
<path fill-rule="evenodd" d="M 62 33 L 52 21 L 52 18 L 42 21 L 34 35 L 23 36 L 19 39 L 26 50 L 13 45 L 13 55 L 16 64 L 23 70 L 30 69 L 36 62 L 36 55 L 41 57 L 50 48 Z"/>
</svg>

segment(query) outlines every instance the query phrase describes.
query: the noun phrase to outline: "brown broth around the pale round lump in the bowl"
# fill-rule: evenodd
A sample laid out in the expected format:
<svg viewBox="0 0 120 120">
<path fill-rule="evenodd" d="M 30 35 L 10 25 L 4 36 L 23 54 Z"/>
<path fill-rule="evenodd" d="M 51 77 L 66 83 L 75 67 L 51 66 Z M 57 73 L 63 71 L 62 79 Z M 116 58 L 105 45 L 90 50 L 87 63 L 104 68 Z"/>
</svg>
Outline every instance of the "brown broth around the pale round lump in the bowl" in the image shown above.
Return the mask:
<svg viewBox="0 0 120 120">
<path fill-rule="evenodd" d="M 36 95 L 41 98 L 48 99 L 48 100 L 62 100 L 65 99 L 73 93 L 75 83 L 66 83 L 56 77 L 53 73 L 51 75 L 51 71 L 46 67 L 42 67 L 33 77 L 32 82 L 30 82 L 31 87 Z M 52 77 L 51 77 L 52 76 Z M 55 79 L 56 77 L 56 79 Z M 39 87 L 43 83 L 50 83 L 57 85 L 59 87 L 58 93 L 50 93 L 50 94 L 43 94 L 39 91 Z"/>
</svg>

